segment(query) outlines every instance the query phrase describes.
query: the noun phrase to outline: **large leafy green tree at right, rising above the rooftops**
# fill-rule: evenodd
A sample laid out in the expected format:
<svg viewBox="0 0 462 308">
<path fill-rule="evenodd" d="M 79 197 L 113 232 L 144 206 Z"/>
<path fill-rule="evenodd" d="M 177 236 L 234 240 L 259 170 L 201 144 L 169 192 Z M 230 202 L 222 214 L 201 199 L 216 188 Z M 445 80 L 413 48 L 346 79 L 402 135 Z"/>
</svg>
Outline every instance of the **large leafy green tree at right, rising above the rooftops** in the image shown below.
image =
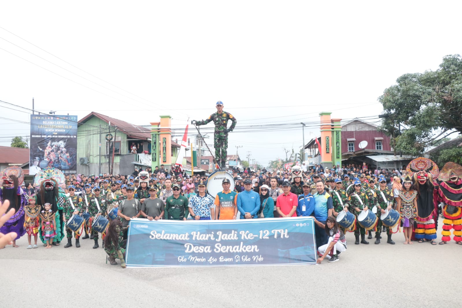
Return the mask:
<svg viewBox="0 0 462 308">
<path fill-rule="evenodd" d="M 443 58 L 439 69 L 408 73 L 378 98 L 384 120 L 379 129 L 403 154 L 420 155 L 451 133 L 462 133 L 462 57 Z"/>
</svg>

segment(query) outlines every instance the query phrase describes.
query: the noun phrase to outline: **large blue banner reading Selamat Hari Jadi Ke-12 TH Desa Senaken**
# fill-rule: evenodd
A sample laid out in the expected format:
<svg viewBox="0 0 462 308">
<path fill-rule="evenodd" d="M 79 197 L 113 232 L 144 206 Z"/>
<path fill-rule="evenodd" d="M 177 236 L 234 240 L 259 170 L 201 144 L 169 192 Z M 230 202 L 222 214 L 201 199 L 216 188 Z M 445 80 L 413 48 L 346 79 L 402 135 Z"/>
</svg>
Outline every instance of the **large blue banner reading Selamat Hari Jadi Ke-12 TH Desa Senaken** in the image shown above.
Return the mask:
<svg viewBox="0 0 462 308">
<path fill-rule="evenodd" d="M 130 220 L 127 266 L 316 264 L 310 217 Z"/>
</svg>

